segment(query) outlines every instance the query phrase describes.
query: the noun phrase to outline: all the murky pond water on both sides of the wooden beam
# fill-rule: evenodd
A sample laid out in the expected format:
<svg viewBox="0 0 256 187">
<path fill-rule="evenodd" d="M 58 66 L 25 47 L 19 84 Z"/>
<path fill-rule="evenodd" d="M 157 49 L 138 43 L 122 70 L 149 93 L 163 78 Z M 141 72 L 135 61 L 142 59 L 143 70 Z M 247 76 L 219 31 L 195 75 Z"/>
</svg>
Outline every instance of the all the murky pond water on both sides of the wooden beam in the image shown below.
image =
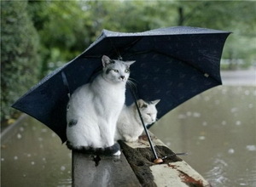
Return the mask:
<svg viewBox="0 0 256 187">
<path fill-rule="evenodd" d="M 212 186 L 256 186 L 255 86 L 221 86 L 197 95 L 150 130 Z M 1 186 L 71 186 L 71 151 L 26 117 L 4 136 Z"/>
</svg>

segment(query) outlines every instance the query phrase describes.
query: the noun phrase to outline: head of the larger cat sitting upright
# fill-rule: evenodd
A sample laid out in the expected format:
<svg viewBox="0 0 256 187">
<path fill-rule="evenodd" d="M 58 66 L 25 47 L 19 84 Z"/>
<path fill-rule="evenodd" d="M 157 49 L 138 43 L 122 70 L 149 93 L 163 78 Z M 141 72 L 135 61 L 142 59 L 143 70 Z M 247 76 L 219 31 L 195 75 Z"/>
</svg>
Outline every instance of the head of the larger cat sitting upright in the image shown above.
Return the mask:
<svg viewBox="0 0 256 187">
<path fill-rule="evenodd" d="M 103 77 L 111 82 L 127 82 L 130 76 L 130 65 L 134 62 L 109 59 L 104 55 L 102 56 Z"/>
</svg>

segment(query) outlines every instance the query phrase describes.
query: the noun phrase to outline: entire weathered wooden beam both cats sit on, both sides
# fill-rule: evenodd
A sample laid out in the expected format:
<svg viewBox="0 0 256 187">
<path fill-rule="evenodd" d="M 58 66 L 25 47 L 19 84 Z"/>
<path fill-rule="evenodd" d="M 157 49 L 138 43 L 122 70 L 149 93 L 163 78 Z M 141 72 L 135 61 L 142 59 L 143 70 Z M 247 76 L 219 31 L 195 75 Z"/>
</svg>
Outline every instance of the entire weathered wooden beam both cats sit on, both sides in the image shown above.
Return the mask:
<svg viewBox="0 0 256 187">
<path fill-rule="evenodd" d="M 122 155 L 93 156 L 73 152 L 73 187 L 80 186 L 211 186 L 188 163 L 176 156 L 160 139 L 151 134 L 157 155 L 164 159 L 154 163 L 148 139 L 119 141 Z"/>
</svg>

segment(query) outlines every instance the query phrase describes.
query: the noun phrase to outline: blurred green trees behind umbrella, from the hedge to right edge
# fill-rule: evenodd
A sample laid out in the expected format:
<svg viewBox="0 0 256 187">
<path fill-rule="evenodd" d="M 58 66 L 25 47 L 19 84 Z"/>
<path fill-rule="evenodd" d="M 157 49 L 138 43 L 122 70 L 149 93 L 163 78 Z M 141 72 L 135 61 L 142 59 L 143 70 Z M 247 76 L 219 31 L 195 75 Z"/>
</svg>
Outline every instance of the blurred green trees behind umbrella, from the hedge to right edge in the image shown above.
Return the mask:
<svg viewBox="0 0 256 187">
<path fill-rule="evenodd" d="M 42 77 L 80 54 L 102 29 L 136 32 L 182 25 L 233 31 L 224 58 L 242 58 L 247 65 L 256 59 L 255 2 L 31 1 L 29 8 L 41 37 Z"/>
</svg>

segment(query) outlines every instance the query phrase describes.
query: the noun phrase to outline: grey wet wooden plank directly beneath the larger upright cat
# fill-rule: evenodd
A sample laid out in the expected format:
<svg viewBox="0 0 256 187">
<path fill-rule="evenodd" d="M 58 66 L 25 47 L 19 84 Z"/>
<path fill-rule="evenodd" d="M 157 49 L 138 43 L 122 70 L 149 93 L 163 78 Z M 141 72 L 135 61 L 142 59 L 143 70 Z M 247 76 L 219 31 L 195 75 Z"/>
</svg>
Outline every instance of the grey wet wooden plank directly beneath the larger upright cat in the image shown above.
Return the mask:
<svg viewBox="0 0 256 187">
<path fill-rule="evenodd" d="M 92 156 L 73 152 L 73 187 L 141 186 L 124 154 Z"/>
</svg>

